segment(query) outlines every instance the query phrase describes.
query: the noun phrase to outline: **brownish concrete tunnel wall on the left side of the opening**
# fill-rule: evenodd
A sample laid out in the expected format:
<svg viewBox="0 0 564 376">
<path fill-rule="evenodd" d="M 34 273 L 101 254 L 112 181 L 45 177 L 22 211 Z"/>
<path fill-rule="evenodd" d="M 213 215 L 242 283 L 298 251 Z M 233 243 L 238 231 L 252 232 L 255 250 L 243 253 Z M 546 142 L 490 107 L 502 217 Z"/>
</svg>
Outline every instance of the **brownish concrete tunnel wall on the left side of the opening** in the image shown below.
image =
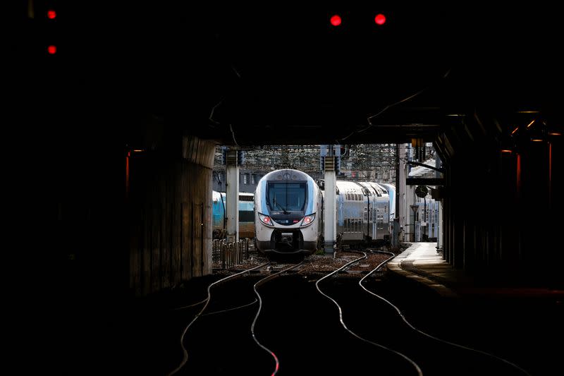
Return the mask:
<svg viewBox="0 0 564 376">
<path fill-rule="evenodd" d="M 184 136 L 178 152 L 131 152 L 129 286 L 135 296 L 212 272 L 215 145 Z"/>
</svg>

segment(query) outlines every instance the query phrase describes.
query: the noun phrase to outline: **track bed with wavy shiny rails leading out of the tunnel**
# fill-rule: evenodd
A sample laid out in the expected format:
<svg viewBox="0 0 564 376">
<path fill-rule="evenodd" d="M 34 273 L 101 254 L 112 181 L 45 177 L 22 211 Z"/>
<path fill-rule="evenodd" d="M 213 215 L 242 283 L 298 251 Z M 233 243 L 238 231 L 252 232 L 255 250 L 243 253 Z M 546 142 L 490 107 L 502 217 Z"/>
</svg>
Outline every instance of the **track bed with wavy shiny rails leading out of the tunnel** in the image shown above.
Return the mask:
<svg viewBox="0 0 564 376">
<path fill-rule="evenodd" d="M 421 314 L 442 303 L 390 278 L 393 256 L 368 249 L 216 276 L 164 315 L 173 336 L 159 336 L 162 359 L 147 373 L 528 375 L 481 350 L 483 338 L 445 336 L 449 328 L 425 322 Z"/>
</svg>

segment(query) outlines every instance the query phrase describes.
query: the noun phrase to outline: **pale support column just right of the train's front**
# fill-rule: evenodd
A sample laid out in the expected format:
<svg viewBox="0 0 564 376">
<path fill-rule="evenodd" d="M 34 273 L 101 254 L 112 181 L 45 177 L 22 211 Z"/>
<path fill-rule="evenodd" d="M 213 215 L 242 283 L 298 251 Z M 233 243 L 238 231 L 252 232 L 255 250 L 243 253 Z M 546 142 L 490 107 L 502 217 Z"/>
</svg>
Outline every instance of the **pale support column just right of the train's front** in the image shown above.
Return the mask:
<svg viewBox="0 0 564 376">
<path fill-rule="evenodd" d="M 335 252 L 336 222 L 336 175 L 335 157 L 325 157 L 325 210 L 324 210 L 324 250 L 326 254 Z"/>
</svg>

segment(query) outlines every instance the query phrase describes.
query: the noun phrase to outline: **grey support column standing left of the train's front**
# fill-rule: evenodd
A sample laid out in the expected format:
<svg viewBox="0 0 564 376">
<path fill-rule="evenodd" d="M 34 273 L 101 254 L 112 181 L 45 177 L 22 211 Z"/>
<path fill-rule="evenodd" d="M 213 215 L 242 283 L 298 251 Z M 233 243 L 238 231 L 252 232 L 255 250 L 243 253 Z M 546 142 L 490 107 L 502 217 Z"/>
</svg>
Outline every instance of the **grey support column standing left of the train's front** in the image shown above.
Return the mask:
<svg viewBox="0 0 564 376">
<path fill-rule="evenodd" d="M 237 150 L 226 150 L 227 242 L 239 241 L 239 166 Z"/>
</svg>

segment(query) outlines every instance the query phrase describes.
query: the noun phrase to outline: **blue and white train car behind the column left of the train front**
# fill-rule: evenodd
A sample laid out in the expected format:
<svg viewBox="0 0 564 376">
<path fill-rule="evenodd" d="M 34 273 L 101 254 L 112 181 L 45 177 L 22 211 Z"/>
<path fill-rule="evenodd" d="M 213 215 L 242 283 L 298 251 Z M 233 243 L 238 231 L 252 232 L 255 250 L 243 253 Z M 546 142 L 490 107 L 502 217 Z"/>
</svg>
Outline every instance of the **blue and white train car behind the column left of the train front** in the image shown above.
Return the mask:
<svg viewBox="0 0 564 376">
<path fill-rule="evenodd" d="M 239 238 L 255 237 L 255 195 L 253 193 L 239 193 Z M 212 238 L 226 237 L 226 194 L 212 193 Z"/>
</svg>

